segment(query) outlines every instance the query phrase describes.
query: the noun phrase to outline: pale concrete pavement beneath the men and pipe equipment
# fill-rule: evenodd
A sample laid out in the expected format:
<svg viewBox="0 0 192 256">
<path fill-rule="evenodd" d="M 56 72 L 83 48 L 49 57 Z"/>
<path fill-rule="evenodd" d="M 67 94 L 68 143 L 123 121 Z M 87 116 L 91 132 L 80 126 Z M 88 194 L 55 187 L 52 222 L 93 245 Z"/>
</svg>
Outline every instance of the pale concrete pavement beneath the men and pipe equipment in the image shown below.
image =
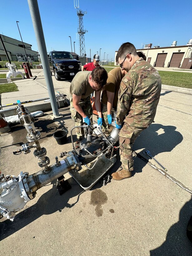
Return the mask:
<svg viewBox="0 0 192 256">
<path fill-rule="evenodd" d="M 55 91 L 69 95 L 70 82 L 52 78 Z M 29 81 L 27 96 L 32 96 L 32 86 L 46 90 L 43 77 Z M 33 88 L 38 91 L 40 87 Z M 140 153 L 150 150 L 169 175 L 192 190 L 191 102 L 190 94 L 162 90 L 155 123 L 141 133 L 134 149 Z M 63 118 L 57 121 L 49 119 L 50 111 L 35 122 L 42 134 L 40 144 L 46 147 L 51 163 L 60 152 L 71 150 L 69 134 L 65 145 L 58 145 L 52 136 L 62 127 L 70 132 L 74 125 L 69 108 L 60 112 Z M 12 155 L 27 142 L 22 126 L 12 127 L 12 133 L 3 136 L 2 173 L 32 174 L 40 169 L 32 152 Z M 118 155 L 117 151 L 110 174 L 120 165 Z M 62 196 L 56 190 L 57 181 L 38 190 L 36 198 L 13 222 L 0 220 L 2 255 L 192 255 L 192 244 L 186 237 L 192 215 L 191 194 L 143 160 L 134 159 L 135 171 L 130 179 L 111 180 L 106 186 L 101 180 L 84 192 L 66 174 L 72 188 Z"/>
</svg>

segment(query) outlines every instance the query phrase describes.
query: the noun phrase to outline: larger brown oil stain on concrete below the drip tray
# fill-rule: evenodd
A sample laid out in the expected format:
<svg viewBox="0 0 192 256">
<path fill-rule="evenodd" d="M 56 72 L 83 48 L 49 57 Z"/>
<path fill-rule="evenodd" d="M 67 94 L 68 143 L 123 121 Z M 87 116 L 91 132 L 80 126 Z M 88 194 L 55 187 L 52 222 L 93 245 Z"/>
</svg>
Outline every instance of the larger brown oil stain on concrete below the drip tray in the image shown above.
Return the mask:
<svg viewBox="0 0 192 256">
<path fill-rule="evenodd" d="M 96 205 L 95 212 L 97 217 L 101 217 L 103 215 L 102 204 L 106 204 L 107 195 L 101 189 L 96 189 L 91 192 L 91 202 L 90 204 Z"/>
</svg>

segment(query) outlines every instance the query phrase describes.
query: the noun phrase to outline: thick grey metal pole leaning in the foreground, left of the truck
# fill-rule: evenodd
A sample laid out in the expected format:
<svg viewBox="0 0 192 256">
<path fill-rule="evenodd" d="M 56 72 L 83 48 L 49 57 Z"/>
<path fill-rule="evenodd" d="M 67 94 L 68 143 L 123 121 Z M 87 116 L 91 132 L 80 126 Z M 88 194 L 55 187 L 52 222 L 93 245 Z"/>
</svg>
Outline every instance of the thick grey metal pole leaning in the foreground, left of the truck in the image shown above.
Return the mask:
<svg viewBox="0 0 192 256">
<path fill-rule="evenodd" d="M 45 38 L 43 35 L 42 22 L 41 22 L 37 0 L 28 0 L 28 5 L 29 5 L 31 17 L 32 17 L 32 22 L 33 22 L 33 27 L 35 31 L 36 40 L 37 40 L 37 45 L 39 48 L 39 53 L 41 56 L 41 62 L 43 66 L 43 71 L 45 75 L 45 81 L 47 84 L 47 90 L 49 93 L 53 116 L 59 117 L 62 115 L 59 114 L 58 107 L 57 107 L 57 101 L 55 97 L 55 91 L 54 91 L 49 61 L 47 57 L 47 49 L 45 44 Z"/>
</svg>

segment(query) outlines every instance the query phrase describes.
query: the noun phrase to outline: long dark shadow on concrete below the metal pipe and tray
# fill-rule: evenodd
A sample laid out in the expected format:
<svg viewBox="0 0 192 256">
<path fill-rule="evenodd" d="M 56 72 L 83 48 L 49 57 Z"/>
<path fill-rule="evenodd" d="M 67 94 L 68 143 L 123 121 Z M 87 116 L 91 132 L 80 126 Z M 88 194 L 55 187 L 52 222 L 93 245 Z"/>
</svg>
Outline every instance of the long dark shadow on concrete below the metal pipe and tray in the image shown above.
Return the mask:
<svg viewBox="0 0 192 256">
<path fill-rule="evenodd" d="M 76 182 L 74 183 L 72 178 L 69 178 L 68 181 L 73 183 L 73 187 L 66 193 L 60 195 L 56 189 L 56 181 L 53 181 L 51 183 L 52 189 L 50 188 L 45 194 L 42 194 L 36 204 L 18 213 L 13 222 L 9 219 L 2 221 L 0 223 L 0 241 L 24 228 L 42 215 L 52 214 L 57 211 L 62 212 L 64 208 L 73 207 L 79 201 L 79 197 L 84 190 Z M 76 202 L 69 204 L 69 199 L 77 195 Z"/>
</svg>

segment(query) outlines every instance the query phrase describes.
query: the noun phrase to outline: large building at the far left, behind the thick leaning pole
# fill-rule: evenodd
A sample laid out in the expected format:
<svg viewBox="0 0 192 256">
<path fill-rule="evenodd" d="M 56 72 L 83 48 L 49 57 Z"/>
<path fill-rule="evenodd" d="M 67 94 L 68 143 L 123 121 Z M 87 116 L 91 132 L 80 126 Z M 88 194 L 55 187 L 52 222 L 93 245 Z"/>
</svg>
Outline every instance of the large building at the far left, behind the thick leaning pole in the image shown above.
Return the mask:
<svg viewBox="0 0 192 256">
<path fill-rule="evenodd" d="M 27 53 L 27 58 L 25 57 L 25 50 L 23 48 L 22 41 L 7 37 L 1 34 L 2 41 L 7 50 L 7 54 L 11 61 L 27 61 L 27 58 L 31 61 L 38 61 L 38 55 L 36 51 L 31 49 L 32 45 L 24 43 L 24 47 Z M 5 51 L 3 49 L 2 43 L 0 41 L 0 61 L 7 60 Z"/>
</svg>

